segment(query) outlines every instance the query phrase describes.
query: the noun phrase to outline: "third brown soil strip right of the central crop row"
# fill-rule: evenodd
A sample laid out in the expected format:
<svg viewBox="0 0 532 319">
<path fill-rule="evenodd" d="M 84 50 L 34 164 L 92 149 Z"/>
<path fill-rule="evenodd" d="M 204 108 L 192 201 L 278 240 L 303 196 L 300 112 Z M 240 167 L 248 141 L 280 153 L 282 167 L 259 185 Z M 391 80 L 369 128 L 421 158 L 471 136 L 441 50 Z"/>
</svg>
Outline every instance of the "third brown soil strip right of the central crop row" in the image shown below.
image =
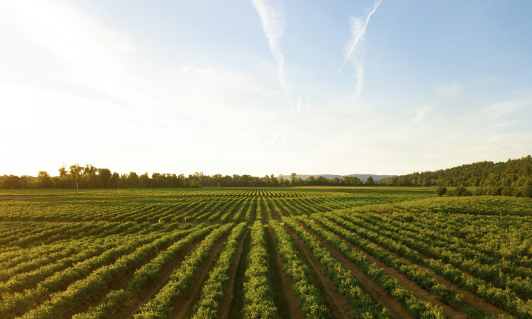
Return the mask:
<svg viewBox="0 0 532 319">
<path fill-rule="evenodd" d="M 377 301 L 377 303 L 380 303 L 384 308 L 388 309 L 388 312 L 392 317 L 395 319 L 403 319 L 403 318 L 410 318 L 410 315 L 406 312 L 406 309 L 404 309 L 401 304 L 396 301 L 392 296 L 389 296 L 389 294 L 382 291 L 380 286 L 375 284 L 371 279 L 367 278 L 365 274 L 362 272 L 362 270 L 358 267 L 356 267 L 352 262 L 350 262 L 347 258 L 343 256 L 338 250 L 336 250 L 331 244 L 323 240 L 323 238 L 316 235 L 312 230 L 307 228 L 305 225 L 300 224 L 301 227 L 305 228 L 306 231 L 314 235 L 318 240 L 320 240 L 323 245 L 327 248 L 329 252 L 342 263 L 343 267 L 349 269 L 351 271 L 351 274 L 355 276 L 355 278 L 360 281 L 360 284 L 362 285 L 362 288 L 367 291 L 367 293 L 370 294 L 370 296 Z"/>
</svg>

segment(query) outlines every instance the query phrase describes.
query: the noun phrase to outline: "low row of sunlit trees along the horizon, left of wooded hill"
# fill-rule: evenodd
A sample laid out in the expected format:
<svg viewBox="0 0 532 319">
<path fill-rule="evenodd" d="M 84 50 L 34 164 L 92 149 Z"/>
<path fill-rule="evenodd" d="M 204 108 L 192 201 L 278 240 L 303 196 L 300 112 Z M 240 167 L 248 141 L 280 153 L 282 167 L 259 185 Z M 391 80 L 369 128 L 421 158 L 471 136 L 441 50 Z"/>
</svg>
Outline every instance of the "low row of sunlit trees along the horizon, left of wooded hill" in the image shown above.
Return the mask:
<svg viewBox="0 0 532 319">
<path fill-rule="evenodd" d="M 160 174 L 148 173 L 118 174 L 107 168 L 97 168 L 91 164 L 84 167 L 73 164 L 67 167 L 65 164 L 58 169 L 58 175 L 50 176 L 46 171 L 39 171 L 36 177 L 23 175 L 0 176 L 0 189 L 106 189 L 106 188 L 160 188 L 160 187 L 280 187 L 280 186 L 361 186 L 375 184 L 372 177 L 367 181 L 361 181 L 358 177 L 343 177 L 327 179 L 325 177 L 309 177 L 301 179 L 296 173 L 290 175 L 290 179 L 284 179 L 283 174 L 278 177 L 275 174 L 264 177 L 251 175 L 205 175 L 196 172 L 185 176 L 184 174 Z"/>
</svg>

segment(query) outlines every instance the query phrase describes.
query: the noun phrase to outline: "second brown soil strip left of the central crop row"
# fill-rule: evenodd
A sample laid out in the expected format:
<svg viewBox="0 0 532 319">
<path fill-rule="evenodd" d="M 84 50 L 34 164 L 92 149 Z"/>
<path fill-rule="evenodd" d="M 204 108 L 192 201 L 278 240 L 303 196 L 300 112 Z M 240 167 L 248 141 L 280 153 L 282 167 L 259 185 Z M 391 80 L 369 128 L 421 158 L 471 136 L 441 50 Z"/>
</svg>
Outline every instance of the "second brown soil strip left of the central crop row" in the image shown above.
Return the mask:
<svg viewBox="0 0 532 319">
<path fill-rule="evenodd" d="M 201 289 L 203 288 L 204 282 L 209 276 L 211 268 L 214 266 L 216 259 L 220 255 L 222 248 L 225 246 L 227 238 L 230 233 L 224 235 L 216 245 L 211 249 L 211 257 L 201 264 L 199 267 L 199 273 L 196 274 L 196 280 L 194 284 L 190 286 L 189 289 L 183 291 L 182 296 L 177 300 L 177 303 L 174 304 L 174 310 L 168 315 L 169 319 L 184 319 L 189 318 L 194 311 L 194 305 L 199 301 L 201 297 Z"/>
</svg>

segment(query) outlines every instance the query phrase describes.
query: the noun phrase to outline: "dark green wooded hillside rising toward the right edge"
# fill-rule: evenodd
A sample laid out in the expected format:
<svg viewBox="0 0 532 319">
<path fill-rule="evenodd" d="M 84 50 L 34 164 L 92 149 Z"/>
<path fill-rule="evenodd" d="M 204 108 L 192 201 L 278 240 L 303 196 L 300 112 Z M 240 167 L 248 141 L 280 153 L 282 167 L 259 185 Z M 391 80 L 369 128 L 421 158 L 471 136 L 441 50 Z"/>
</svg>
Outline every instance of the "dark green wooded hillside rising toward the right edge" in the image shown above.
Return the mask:
<svg viewBox="0 0 532 319">
<path fill-rule="evenodd" d="M 415 172 L 377 181 L 394 186 L 462 186 L 522 188 L 532 185 L 532 157 L 508 159 L 506 162 L 476 162 L 436 172 Z"/>
</svg>

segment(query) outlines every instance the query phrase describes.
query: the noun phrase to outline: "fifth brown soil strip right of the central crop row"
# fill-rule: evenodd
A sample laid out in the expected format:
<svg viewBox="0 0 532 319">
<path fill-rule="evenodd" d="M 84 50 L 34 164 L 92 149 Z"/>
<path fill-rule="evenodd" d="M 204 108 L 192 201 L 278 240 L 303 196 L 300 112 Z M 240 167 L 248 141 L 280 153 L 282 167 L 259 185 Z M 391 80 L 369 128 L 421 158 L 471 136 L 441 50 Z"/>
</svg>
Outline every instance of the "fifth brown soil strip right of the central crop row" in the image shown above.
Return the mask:
<svg viewBox="0 0 532 319">
<path fill-rule="evenodd" d="M 341 225 L 338 225 L 338 224 L 335 224 L 335 225 L 337 225 L 340 228 L 343 228 Z M 343 228 L 343 229 L 345 229 L 345 228 Z M 364 239 L 364 238 L 360 237 L 360 239 Z M 410 262 L 409 259 L 406 259 L 405 257 L 401 257 L 398 254 L 396 254 L 395 252 L 392 252 L 391 250 L 387 250 L 386 248 L 378 245 L 376 242 L 372 242 L 372 243 L 377 245 L 377 247 L 381 248 L 385 252 L 388 252 L 389 254 L 392 254 L 392 256 L 400 259 L 401 262 L 404 262 L 405 264 L 409 264 L 409 265 L 414 264 L 414 263 Z M 426 256 L 424 258 L 426 258 Z M 433 273 L 431 271 L 431 269 L 424 268 L 424 267 L 421 267 L 421 266 L 419 266 L 419 267 L 421 269 L 423 269 L 423 270 L 431 272 L 432 276 L 434 277 L 434 279 L 436 279 L 436 281 L 438 281 L 438 283 L 444 284 L 445 286 L 449 286 L 449 287 L 452 287 L 452 288 L 456 289 L 456 291 L 458 293 L 461 293 L 464 296 L 464 301 L 466 303 L 468 303 L 470 306 L 476 308 L 480 312 L 486 313 L 488 315 L 507 315 L 507 316 L 511 316 L 508 311 L 502 310 L 501 308 L 499 308 L 497 306 L 493 306 L 491 303 L 488 303 L 487 301 L 482 300 L 482 298 L 480 298 L 479 296 L 475 295 L 475 293 L 472 293 L 471 291 L 467 291 L 465 289 L 460 289 L 455 283 L 453 283 L 451 281 L 448 281 L 447 279 L 443 278 L 442 276 L 440 276 L 438 274 Z"/>
</svg>

